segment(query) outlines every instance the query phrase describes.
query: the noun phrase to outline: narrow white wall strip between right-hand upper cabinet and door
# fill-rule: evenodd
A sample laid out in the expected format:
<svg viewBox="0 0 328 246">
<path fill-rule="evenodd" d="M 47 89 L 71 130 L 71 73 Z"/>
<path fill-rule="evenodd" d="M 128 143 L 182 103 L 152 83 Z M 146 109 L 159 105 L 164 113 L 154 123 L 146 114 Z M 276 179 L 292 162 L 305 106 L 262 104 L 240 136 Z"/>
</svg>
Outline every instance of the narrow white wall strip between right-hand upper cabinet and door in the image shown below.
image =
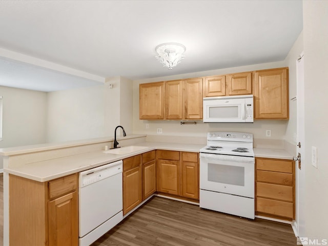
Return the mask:
<svg viewBox="0 0 328 246">
<path fill-rule="evenodd" d="M 298 36 L 292 49 L 285 58 L 285 66 L 289 67 L 289 98 L 296 96 L 296 59 L 303 51 L 303 31 Z M 289 101 L 289 121 L 285 132 L 285 140 L 291 144 L 296 144 L 295 134 L 297 128 L 297 107 L 296 100 Z"/>
</svg>

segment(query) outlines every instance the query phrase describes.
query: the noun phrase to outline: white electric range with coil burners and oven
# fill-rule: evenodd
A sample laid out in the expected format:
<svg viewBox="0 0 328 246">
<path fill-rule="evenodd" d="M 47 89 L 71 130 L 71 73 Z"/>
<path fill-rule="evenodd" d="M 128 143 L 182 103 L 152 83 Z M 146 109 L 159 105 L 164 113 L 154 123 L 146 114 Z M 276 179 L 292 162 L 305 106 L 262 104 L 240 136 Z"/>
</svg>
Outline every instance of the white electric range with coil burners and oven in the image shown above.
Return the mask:
<svg viewBox="0 0 328 246">
<path fill-rule="evenodd" d="M 199 152 L 200 208 L 254 219 L 253 134 L 209 132 Z"/>
</svg>

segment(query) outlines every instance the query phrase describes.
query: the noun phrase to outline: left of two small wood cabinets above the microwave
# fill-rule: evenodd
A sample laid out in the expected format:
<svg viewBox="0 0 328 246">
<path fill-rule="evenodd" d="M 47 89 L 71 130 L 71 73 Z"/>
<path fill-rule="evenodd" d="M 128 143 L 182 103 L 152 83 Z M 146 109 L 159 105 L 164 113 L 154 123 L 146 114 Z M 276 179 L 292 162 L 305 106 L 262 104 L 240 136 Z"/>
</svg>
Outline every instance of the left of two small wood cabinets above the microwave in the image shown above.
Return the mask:
<svg viewBox="0 0 328 246">
<path fill-rule="evenodd" d="M 226 95 L 226 76 L 206 77 L 204 81 L 204 97 L 225 96 Z"/>
</svg>

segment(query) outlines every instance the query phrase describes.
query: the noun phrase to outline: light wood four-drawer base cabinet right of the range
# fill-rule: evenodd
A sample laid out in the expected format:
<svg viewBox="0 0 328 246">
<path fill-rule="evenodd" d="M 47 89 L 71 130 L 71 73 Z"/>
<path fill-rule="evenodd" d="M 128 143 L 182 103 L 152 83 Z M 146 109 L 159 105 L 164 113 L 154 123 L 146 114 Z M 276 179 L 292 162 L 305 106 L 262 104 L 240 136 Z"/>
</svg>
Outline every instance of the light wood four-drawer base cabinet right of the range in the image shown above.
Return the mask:
<svg viewBox="0 0 328 246">
<path fill-rule="evenodd" d="M 295 162 L 255 158 L 255 214 L 292 220 L 295 218 Z"/>
</svg>

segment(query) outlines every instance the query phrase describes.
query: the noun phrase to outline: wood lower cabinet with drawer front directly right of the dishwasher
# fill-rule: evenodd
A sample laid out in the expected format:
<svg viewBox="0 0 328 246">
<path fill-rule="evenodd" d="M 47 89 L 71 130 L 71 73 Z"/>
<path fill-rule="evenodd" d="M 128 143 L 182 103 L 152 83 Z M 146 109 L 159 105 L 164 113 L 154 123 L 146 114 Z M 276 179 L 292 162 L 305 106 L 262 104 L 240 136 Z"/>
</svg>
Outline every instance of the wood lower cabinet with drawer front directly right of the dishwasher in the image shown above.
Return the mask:
<svg viewBox="0 0 328 246">
<path fill-rule="evenodd" d="M 142 201 L 141 155 L 123 159 L 123 214 Z"/>
</svg>

